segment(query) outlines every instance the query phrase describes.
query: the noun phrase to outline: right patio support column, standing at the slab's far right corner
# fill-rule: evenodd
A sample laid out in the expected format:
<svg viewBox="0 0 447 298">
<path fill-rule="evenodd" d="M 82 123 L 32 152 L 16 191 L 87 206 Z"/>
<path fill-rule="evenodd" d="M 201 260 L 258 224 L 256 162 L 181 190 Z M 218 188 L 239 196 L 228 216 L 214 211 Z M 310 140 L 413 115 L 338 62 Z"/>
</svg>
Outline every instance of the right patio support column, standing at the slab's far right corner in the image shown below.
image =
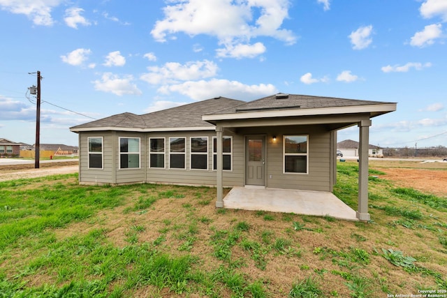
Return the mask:
<svg viewBox="0 0 447 298">
<path fill-rule="evenodd" d="M 358 162 L 358 210 L 357 218 L 360 221 L 369 221 L 368 213 L 368 149 L 369 126 L 371 120 L 362 120 L 358 123 L 359 135 L 359 162 Z"/>
</svg>

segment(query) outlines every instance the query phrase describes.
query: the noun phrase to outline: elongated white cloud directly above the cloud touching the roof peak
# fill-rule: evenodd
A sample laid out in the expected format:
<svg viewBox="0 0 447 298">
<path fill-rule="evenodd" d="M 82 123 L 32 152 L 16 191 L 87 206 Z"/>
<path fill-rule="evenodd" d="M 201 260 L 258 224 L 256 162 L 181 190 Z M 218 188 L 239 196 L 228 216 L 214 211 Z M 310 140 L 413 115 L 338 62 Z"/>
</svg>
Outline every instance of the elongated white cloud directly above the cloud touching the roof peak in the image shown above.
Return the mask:
<svg viewBox="0 0 447 298">
<path fill-rule="evenodd" d="M 140 79 L 149 84 L 177 83 L 179 81 L 200 80 L 214 77 L 219 68 L 212 61 L 189 61 L 186 64 L 168 62 L 164 66 L 147 68 L 149 73 L 140 76 Z"/>
</svg>

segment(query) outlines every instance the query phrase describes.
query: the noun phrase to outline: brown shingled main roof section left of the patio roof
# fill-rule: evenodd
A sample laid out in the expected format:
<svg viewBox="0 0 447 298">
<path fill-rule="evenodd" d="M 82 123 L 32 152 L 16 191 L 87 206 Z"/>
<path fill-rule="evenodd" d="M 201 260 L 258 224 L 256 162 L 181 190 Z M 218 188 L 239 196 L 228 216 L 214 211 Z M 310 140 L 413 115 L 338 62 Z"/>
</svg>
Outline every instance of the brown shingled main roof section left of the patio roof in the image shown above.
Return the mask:
<svg viewBox="0 0 447 298">
<path fill-rule="evenodd" d="M 245 103 L 242 100 L 217 97 L 179 107 L 136 115 L 129 112 L 73 126 L 71 131 L 91 130 L 136 130 L 150 131 L 156 128 L 197 128 L 212 124 L 202 120 L 203 114 L 212 114 Z"/>
</svg>

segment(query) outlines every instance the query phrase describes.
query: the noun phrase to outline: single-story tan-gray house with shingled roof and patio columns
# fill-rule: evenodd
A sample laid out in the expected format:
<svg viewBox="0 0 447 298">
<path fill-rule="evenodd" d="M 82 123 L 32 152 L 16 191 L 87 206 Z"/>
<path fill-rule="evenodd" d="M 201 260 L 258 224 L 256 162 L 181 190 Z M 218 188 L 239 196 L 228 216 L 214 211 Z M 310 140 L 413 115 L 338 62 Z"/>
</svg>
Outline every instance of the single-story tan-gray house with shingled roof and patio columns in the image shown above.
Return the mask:
<svg viewBox="0 0 447 298">
<path fill-rule="evenodd" d="M 244 102 L 216 97 L 167 110 L 113 115 L 70 128 L 78 133 L 80 184 L 163 183 L 258 186 L 331 192 L 337 130 L 357 125 L 357 217 L 368 221 L 368 141 L 372 117 L 396 103 L 275 94 Z"/>
</svg>

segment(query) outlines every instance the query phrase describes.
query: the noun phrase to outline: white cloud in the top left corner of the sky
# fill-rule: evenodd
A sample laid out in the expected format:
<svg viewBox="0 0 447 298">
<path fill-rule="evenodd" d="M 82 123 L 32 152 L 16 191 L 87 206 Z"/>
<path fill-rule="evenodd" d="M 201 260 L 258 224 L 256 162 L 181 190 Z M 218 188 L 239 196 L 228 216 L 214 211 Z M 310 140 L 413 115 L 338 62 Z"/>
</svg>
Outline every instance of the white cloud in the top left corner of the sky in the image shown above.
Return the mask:
<svg viewBox="0 0 447 298">
<path fill-rule="evenodd" d="M 62 0 L 0 0 L 0 8 L 10 13 L 27 15 L 36 25 L 51 26 L 51 10 Z"/>
</svg>

